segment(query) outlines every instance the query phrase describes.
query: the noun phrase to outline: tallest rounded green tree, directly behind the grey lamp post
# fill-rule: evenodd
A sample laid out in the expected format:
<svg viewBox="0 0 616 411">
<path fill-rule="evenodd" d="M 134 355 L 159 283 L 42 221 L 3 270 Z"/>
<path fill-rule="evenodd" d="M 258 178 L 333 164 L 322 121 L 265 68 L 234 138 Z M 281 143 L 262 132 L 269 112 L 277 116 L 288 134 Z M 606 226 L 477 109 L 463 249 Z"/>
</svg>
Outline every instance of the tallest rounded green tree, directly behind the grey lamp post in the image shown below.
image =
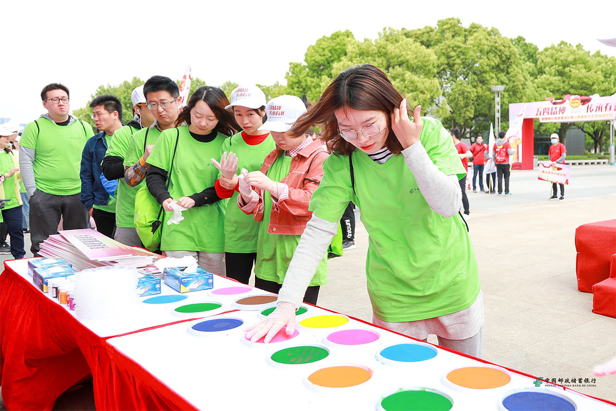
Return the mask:
<svg viewBox="0 0 616 411">
<path fill-rule="evenodd" d="M 533 90 L 525 64 L 530 64 L 525 58 L 532 53 L 522 57 L 521 39 L 516 46 L 496 28 L 477 23 L 467 28 L 460 19 L 447 18 L 439 20 L 436 27 L 405 30 L 403 34 L 436 54 L 442 96 L 435 111 L 441 114 L 445 126 L 459 128 L 471 141 L 487 132 L 493 121 L 494 93 L 490 86 L 506 86 L 501 93 L 501 129 L 508 126 L 509 102 L 525 101 Z"/>
</svg>

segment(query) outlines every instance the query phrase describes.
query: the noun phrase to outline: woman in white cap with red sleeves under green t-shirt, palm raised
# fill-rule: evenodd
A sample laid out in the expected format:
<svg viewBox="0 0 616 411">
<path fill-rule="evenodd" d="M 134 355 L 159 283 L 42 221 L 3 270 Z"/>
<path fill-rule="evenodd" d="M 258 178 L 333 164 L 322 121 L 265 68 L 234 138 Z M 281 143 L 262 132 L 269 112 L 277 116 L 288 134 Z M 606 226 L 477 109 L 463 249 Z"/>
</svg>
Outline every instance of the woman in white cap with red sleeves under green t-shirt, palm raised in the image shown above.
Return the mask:
<svg viewBox="0 0 616 411">
<path fill-rule="evenodd" d="M 221 166 L 212 163 L 221 171 L 216 181 L 216 193 L 221 198 L 231 198 L 225 213 L 225 266 L 227 277 L 248 284 L 257 258 L 257 235 L 259 222 L 242 213 L 237 207 L 237 169 L 257 171 L 265 156 L 274 150 L 275 143 L 269 131 L 259 128 L 265 117 L 265 94 L 257 86 L 239 86 L 231 92 L 231 104 L 235 121 L 243 131 L 222 143 Z M 227 157 L 227 153 L 229 156 Z"/>
</svg>

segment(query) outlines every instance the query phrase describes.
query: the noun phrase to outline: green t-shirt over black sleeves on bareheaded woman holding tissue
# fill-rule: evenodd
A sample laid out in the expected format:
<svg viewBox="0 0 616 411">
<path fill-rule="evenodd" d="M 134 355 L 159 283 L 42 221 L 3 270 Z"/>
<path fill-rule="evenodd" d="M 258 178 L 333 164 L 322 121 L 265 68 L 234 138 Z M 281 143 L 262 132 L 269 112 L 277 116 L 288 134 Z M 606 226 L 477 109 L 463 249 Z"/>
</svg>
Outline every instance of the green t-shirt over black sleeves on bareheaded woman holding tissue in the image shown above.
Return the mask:
<svg viewBox="0 0 616 411">
<path fill-rule="evenodd" d="M 179 130 L 179 140 L 171 171 L 171 184 L 169 184 L 171 198 L 176 201 L 180 197 L 188 197 L 214 186 L 218 177 L 218 169 L 209 159 L 219 157 L 222 143 L 227 138 L 224 134 L 218 133 L 214 140 L 205 143 L 193 139 L 188 132 L 188 126 L 165 130 L 156 141 L 147 159 L 150 165 L 169 172 L 173 149 L 176 145 L 177 130 Z M 143 144 L 141 147 L 143 148 Z M 172 213 L 164 212 L 160 249 L 162 251 L 223 253 L 225 251 L 225 208 L 227 208 L 227 200 L 193 207 L 182 211 L 184 220 L 179 224 L 171 225 L 167 225 L 166 221 L 171 218 Z"/>
</svg>

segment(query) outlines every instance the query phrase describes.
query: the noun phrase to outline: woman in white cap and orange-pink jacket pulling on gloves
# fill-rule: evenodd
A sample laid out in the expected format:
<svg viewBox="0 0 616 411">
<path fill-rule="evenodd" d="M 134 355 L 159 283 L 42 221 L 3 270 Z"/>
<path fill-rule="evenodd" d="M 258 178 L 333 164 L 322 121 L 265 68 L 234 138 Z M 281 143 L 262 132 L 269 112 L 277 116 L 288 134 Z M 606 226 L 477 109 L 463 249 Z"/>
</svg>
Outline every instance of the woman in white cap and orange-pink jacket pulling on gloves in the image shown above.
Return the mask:
<svg viewBox="0 0 616 411">
<path fill-rule="evenodd" d="M 267 121 L 276 149 L 265 157 L 261 171 L 242 171 L 237 204 L 246 214 L 261 221 L 257 239 L 254 285 L 277 293 L 299 238 L 312 212 L 308 210 L 312 193 L 323 177 L 323 160 L 328 154 L 319 140 L 286 134 L 306 112 L 299 97 L 279 96 L 267 103 Z M 254 190 L 251 188 L 254 187 Z M 309 280 L 303 300 L 316 304 L 319 287 L 327 282 L 327 259 L 323 251 Z"/>
</svg>

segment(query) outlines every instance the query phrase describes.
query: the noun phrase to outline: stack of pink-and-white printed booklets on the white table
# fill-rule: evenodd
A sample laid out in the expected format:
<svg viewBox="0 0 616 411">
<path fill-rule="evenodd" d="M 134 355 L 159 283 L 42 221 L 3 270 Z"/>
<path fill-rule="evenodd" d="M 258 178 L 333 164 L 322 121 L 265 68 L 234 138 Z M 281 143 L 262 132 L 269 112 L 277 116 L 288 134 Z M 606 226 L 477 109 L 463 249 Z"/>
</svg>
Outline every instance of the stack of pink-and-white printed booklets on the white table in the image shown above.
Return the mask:
<svg viewBox="0 0 616 411">
<path fill-rule="evenodd" d="M 63 230 L 41 243 L 41 256 L 70 261 L 76 270 L 104 266 L 150 266 L 160 255 L 119 243 L 92 229 Z"/>
</svg>

